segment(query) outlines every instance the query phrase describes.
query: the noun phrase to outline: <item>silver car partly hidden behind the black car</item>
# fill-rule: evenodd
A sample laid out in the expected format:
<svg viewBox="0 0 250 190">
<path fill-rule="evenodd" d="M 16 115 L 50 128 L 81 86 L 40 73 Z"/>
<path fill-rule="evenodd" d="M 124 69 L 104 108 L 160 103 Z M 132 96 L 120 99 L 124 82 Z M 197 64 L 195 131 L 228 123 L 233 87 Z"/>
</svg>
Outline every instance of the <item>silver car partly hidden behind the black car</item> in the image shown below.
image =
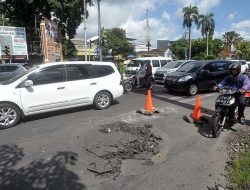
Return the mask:
<svg viewBox="0 0 250 190">
<path fill-rule="evenodd" d="M 191 62 L 192 60 L 179 60 L 169 62 L 168 64 L 164 65 L 163 67 L 159 68 L 155 72 L 155 82 L 157 83 L 164 83 L 164 80 L 167 74 L 177 71 L 181 68 L 185 63 Z"/>
</svg>

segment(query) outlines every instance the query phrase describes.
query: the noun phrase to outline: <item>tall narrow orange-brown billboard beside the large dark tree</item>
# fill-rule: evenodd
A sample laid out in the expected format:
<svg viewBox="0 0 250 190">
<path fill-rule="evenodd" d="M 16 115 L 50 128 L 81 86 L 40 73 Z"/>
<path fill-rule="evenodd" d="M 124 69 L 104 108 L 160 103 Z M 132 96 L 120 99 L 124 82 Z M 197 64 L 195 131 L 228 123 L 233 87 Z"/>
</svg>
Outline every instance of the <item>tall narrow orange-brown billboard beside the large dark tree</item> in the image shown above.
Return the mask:
<svg viewBox="0 0 250 190">
<path fill-rule="evenodd" d="M 62 45 L 58 33 L 58 25 L 45 18 L 40 28 L 45 62 L 62 60 Z"/>
</svg>

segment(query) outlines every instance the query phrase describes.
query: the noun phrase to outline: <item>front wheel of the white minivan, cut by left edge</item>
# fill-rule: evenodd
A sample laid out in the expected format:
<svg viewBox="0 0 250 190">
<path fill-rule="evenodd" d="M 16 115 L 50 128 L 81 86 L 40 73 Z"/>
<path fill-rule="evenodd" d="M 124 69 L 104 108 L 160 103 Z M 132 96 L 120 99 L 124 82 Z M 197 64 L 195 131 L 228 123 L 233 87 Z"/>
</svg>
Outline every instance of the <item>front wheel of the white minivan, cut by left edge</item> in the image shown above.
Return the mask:
<svg viewBox="0 0 250 190">
<path fill-rule="evenodd" d="M 6 129 L 18 124 L 21 120 L 20 109 L 9 103 L 0 104 L 0 129 Z"/>
</svg>

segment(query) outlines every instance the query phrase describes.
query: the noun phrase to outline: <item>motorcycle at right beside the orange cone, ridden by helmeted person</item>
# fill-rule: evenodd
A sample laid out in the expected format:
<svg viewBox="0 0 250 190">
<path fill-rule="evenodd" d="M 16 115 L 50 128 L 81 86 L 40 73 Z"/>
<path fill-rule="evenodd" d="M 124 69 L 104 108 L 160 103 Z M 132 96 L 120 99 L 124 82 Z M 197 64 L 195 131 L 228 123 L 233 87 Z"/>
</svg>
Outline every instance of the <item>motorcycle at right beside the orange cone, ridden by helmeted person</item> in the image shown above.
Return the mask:
<svg viewBox="0 0 250 190">
<path fill-rule="evenodd" d="M 238 89 L 224 87 L 219 90 L 220 95 L 215 101 L 215 116 L 213 118 L 212 134 L 216 138 L 220 135 L 227 122 L 235 122 L 238 117 L 238 106 L 234 95 L 240 93 Z M 233 115 L 233 118 L 230 117 Z"/>
</svg>

